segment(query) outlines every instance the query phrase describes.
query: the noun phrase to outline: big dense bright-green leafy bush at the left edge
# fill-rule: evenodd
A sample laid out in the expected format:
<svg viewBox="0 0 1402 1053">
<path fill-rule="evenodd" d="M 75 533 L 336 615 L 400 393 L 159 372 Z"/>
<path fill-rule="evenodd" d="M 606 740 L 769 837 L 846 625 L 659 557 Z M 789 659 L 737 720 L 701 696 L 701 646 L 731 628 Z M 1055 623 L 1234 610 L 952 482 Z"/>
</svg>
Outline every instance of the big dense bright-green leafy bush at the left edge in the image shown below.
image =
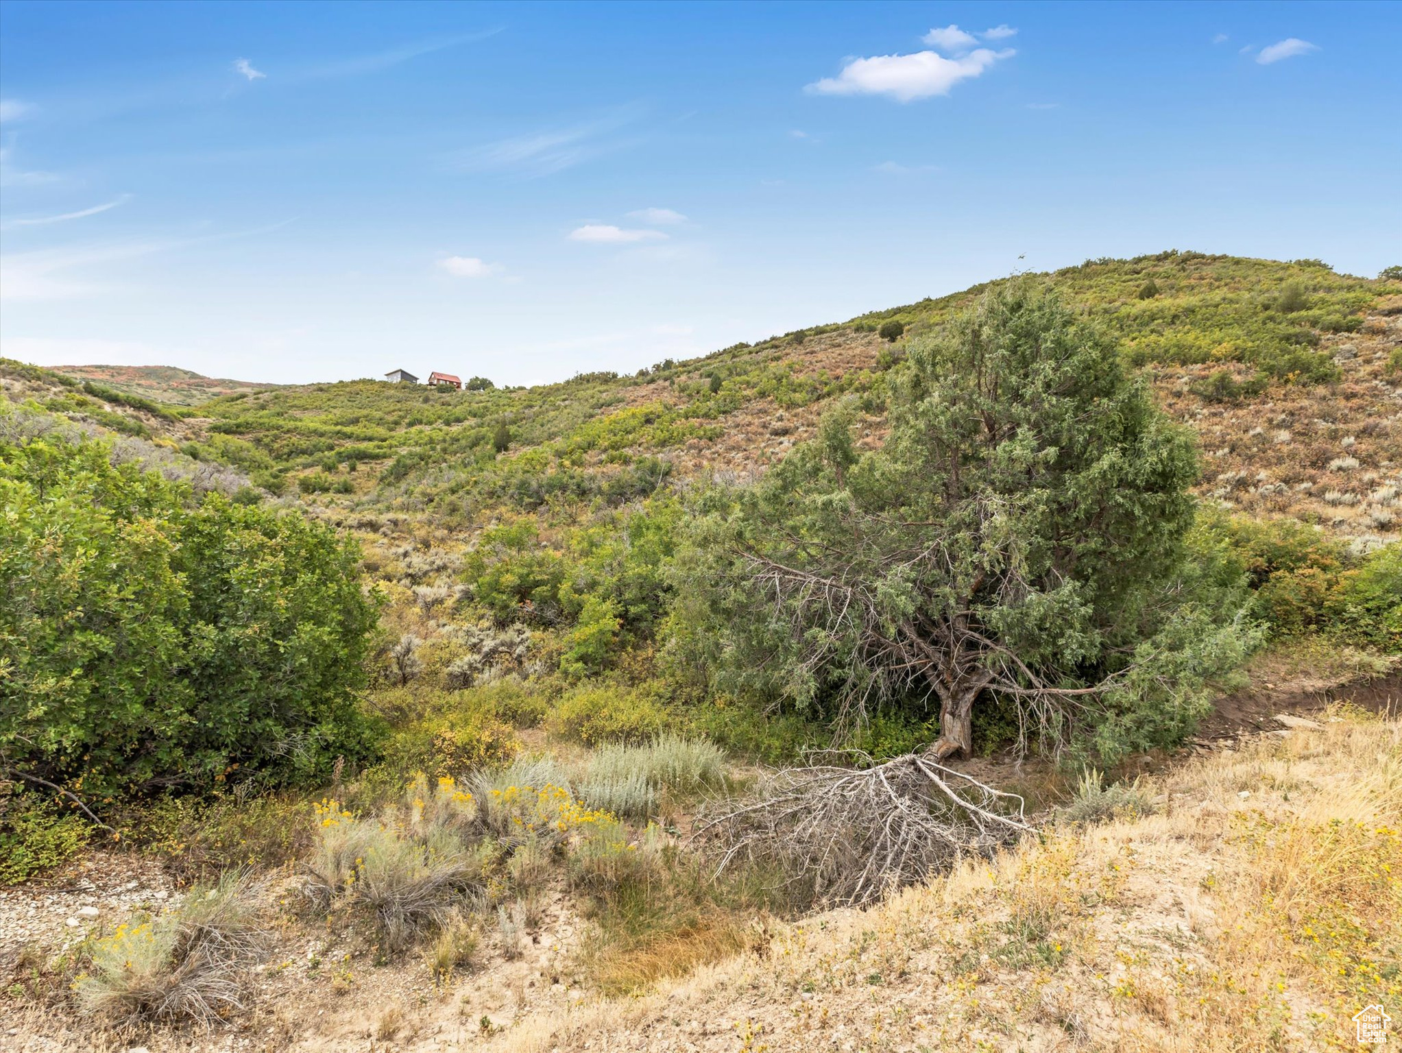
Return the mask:
<svg viewBox="0 0 1402 1053">
<path fill-rule="evenodd" d="M 84 795 L 374 753 L 358 548 L 91 440 L 0 443 L 0 766 Z"/>
</svg>

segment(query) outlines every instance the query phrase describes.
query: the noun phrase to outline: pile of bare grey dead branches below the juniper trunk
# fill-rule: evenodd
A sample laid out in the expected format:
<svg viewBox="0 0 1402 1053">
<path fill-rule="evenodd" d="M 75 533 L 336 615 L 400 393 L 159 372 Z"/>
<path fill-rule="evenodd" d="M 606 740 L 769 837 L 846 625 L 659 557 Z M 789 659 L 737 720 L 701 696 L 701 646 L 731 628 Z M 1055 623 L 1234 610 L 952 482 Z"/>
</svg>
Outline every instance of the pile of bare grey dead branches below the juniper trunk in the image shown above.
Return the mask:
<svg viewBox="0 0 1402 1053">
<path fill-rule="evenodd" d="M 711 810 L 694 838 L 715 858 L 715 876 L 740 861 L 773 867 L 795 897 L 848 906 L 991 855 L 1032 829 L 1021 796 L 918 753 L 862 768 L 784 768 L 756 798 Z"/>
</svg>

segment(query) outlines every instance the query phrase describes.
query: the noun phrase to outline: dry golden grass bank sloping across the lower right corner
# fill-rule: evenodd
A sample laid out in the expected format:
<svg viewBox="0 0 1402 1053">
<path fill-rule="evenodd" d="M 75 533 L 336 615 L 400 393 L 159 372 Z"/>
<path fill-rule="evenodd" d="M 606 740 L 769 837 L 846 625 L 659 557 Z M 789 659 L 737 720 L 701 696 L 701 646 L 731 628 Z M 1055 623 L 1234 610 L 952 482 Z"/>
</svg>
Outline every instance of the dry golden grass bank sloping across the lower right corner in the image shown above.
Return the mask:
<svg viewBox="0 0 1402 1053">
<path fill-rule="evenodd" d="M 1402 722 L 1338 712 L 648 997 L 494 1049 L 1311 1050 L 1402 1004 Z M 691 1043 L 690 1046 L 686 1043 Z"/>
</svg>

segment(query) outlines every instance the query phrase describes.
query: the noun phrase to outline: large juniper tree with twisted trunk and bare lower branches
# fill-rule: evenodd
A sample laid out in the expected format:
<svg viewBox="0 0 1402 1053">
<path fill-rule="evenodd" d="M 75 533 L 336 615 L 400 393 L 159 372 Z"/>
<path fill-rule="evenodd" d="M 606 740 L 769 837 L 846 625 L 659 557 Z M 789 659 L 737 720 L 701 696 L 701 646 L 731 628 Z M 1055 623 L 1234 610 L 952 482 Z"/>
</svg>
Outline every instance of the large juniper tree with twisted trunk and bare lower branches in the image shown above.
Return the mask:
<svg viewBox="0 0 1402 1053">
<path fill-rule="evenodd" d="M 994 289 L 894 374 L 890 433 L 852 411 L 758 484 L 709 496 L 679 623 L 719 687 L 817 708 L 939 709 L 967 754 L 979 705 L 1021 745 L 1102 753 L 1182 733 L 1241 637 L 1185 600 L 1196 454 L 1116 345 L 1057 297 Z"/>
</svg>

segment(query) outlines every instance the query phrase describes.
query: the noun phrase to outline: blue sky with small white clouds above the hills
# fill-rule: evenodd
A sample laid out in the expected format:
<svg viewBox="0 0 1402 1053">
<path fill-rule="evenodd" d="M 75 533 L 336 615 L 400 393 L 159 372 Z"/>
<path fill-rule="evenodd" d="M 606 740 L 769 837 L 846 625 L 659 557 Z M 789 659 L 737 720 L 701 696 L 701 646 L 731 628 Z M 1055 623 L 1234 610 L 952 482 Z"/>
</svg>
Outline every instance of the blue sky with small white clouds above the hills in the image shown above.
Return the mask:
<svg viewBox="0 0 1402 1053">
<path fill-rule="evenodd" d="M 0 353 L 635 370 L 1018 268 L 1402 262 L 1402 4 L 0 3 Z"/>
</svg>

